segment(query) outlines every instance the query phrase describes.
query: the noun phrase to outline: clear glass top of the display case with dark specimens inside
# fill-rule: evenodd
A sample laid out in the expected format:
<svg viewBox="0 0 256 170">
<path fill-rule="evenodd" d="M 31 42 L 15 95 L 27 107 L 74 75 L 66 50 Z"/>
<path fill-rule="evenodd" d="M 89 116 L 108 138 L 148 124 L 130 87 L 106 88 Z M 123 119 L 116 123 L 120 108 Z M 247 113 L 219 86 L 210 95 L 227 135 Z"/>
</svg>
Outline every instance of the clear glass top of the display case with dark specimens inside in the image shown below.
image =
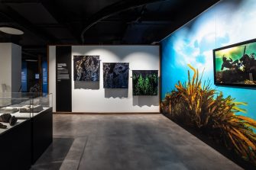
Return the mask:
<svg viewBox="0 0 256 170">
<path fill-rule="evenodd" d="M 0 133 L 52 109 L 52 98 L 42 93 L 0 93 Z"/>
</svg>

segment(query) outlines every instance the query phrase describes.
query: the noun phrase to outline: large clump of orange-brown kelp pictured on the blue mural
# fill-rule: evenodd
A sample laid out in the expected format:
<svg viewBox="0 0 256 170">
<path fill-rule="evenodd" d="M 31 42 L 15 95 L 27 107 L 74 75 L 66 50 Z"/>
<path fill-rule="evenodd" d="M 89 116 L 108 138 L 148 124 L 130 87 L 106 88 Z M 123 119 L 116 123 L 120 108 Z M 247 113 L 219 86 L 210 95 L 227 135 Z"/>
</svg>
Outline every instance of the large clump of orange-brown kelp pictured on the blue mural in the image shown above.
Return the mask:
<svg viewBox="0 0 256 170">
<path fill-rule="evenodd" d="M 177 123 L 196 128 L 216 143 L 234 151 L 256 165 L 256 121 L 239 115 L 245 113 L 241 105 L 231 96 L 223 97 L 221 91 L 210 88 L 210 82 L 202 83 L 198 70 L 193 70 L 188 82 L 178 82 L 175 89 L 167 93 L 161 108 L 165 114 Z M 240 107 L 239 107 L 240 106 Z"/>
</svg>

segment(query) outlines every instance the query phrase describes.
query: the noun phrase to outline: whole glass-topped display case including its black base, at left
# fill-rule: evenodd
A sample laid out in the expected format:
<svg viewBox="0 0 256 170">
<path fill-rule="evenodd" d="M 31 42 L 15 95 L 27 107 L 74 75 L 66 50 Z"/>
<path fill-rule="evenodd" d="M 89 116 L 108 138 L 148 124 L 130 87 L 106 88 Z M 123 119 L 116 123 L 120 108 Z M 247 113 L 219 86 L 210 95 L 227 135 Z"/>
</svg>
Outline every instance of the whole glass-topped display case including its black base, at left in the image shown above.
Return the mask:
<svg viewBox="0 0 256 170">
<path fill-rule="evenodd" d="M 52 106 L 52 94 L 0 93 L 1 169 L 29 169 L 50 146 Z"/>
</svg>

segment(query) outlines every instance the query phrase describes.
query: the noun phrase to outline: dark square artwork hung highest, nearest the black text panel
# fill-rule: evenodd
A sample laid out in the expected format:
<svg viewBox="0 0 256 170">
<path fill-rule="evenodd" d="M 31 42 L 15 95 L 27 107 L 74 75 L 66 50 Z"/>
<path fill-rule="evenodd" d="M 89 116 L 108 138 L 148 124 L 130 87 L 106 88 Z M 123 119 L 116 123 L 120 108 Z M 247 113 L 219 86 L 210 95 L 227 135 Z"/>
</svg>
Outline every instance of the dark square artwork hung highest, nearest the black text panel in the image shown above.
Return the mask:
<svg viewBox="0 0 256 170">
<path fill-rule="evenodd" d="M 99 81 L 99 56 L 73 56 L 74 81 Z"/>
</svg>

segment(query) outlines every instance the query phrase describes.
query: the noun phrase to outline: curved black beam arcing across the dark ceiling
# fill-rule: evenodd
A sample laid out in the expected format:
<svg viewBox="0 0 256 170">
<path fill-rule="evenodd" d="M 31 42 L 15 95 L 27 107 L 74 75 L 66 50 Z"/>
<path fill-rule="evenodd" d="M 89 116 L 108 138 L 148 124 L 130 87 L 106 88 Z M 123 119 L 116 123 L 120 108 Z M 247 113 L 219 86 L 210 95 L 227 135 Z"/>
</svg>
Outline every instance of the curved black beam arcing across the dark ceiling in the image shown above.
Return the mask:
<svg viewBox="0 0 256 170">
<path fill-rule="evenodd" d="M 89 20 L 86 22 L 86 26 L 81 33 L 82 43 L 85 42 L 84 35 L 86 33 L 86 30 L 88 30 L 90 27 L 92 27 L 94 24 L 98 23 L 99 21 L 105 18 L 109 18 L 114 14 L 118 14 L 122 11 L 126 11 L 131 8 L 138 8 L 140 6 L 147 5 L 150 3 L 164 2 L 164 1 L 166 0 L 125 0 L 125 1 L 116 2 L 112 5 L 102 8 L 102 10 L 92 15 L 92 17 L 89 18 Z"/>
</svg>

